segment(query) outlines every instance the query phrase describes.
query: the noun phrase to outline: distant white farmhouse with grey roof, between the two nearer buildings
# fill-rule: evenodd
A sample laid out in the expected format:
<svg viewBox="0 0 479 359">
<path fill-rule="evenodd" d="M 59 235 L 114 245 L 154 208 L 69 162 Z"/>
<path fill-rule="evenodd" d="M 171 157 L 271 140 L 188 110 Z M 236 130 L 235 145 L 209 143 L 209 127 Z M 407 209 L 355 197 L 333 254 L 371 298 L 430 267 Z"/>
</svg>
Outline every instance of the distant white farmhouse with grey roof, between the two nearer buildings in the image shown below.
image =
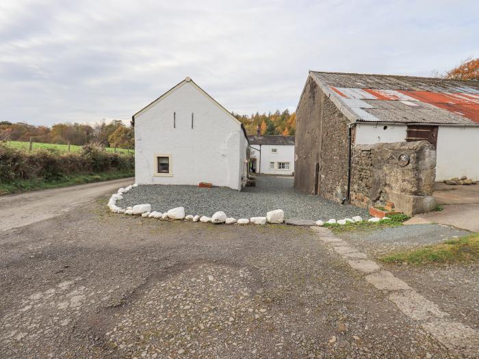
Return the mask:
<svg viewBox="0 0 479 359">
<path fill-rule="evenodd" d="M 294 136 L 248 136 L 250 171 L 262 174 L 294 174 Z"/>
</svg>

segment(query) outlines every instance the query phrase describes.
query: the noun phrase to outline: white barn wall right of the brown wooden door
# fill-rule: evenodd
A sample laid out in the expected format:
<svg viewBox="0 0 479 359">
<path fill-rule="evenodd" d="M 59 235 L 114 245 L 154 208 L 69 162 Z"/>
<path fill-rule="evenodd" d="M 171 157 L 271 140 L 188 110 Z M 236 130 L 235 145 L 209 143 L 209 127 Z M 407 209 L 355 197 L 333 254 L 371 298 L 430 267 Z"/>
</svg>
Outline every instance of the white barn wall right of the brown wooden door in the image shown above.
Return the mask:
<svg viewBox="0 0 479 359">
<path fill-rule="evenodd" d="M 479 181 L 479 126 L 439 126 L 436 181 L 461 176 Z"/>
</svg>

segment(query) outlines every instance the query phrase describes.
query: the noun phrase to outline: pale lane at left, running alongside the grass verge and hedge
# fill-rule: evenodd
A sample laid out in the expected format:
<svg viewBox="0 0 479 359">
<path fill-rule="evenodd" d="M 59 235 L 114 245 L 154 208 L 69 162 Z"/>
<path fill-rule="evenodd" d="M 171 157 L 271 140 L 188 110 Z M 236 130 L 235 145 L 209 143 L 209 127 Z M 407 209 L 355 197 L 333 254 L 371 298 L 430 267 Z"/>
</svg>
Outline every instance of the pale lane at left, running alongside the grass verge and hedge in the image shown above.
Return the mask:
<svg viewBox="0 0 479 359">
<path fill-rule="evenodd" d="M 133 183 L 134 178 L 0 197 L 0 232 L 47 220 Z"/>
</svg>

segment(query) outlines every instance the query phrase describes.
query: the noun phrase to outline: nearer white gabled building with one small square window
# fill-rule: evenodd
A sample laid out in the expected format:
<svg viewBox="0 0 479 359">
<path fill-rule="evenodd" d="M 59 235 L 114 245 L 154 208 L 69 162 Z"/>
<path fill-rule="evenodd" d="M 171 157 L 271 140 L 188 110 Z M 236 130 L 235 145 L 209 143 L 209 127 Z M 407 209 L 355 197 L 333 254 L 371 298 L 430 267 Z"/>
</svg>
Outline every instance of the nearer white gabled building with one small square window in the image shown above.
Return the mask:
<svg viewBox="0 0 479 359">
<path fill-rule="evenodd" d="M 133 124 L 137 183 L 246 185 L 242 123 L 189 77 L 133 115 Z"/>
</svg>

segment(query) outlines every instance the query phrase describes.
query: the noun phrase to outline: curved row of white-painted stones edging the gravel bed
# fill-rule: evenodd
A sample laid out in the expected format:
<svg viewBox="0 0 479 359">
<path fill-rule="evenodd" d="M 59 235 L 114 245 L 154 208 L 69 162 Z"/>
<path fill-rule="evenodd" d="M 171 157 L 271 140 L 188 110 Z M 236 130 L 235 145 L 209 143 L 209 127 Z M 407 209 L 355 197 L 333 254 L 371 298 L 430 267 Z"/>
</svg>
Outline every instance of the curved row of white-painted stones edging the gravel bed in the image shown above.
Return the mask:
<svg viewBox="0 0 479 359">
<path fill-rule="evenodd" d="M 185 208 L 184 207 L 177 207 L 174 209 L 170 209 L 165 213 L 161 213 L 158 211 L 151 211 L 151 204 L 144 203 L 144 204 L 136 204 L 133 207 L 127 207 L 126 209 L 122 209 L 116 205 L 117 200 L 123 199 L 123 194 L 126 194 L 132 188 L 138 187 L 137 183 L 133 185 L 129 185 L 125 188 L 120 188 L 116 192 L 116 194 L 112 194 L 108 201 L 108 208 L 113 213 L 125 213 L 125 215 L 141 215 L 144 218 L 155 218 L 158 220 L 185 220 L 185 221 L 193 221 L 193 222 L 202 222 L 202 223 L 213 223 L 213 224 L 259 224 L 263 225 L 266 223 L 271 224 L 281 224 L 285 222 L 285 212 L 282 209 L 274 209 L 273 211 L 269 211 L 266 213 L 266 217 L 251 217 L 251 218 L 239 218 L 236 220 L 233 217 L 226 216 L 226 213 L 223 211 L 218 211 L 214 213 L 211 217 L 206 215 L 185 215 Z M 385 218 L 387 219 L 387 218 Z M 384 219 L 383 219 L 384 220 Z M 369 222 L 379 222 L 379 218 L 373 217 L 368 220 Z M 335 220 L 331 219 L 327 222 L 323 222 L 322 220 L 318 220 L 315 222 L 316 226 L 324 226 L 325 223 L 327 224 L 348 224 L 348 223 L 359 223 L 363 222 L 363 219 L 357 215 L 356 217 L 352 218 L 344 218 L 344 220 Z"/>
</svg>

